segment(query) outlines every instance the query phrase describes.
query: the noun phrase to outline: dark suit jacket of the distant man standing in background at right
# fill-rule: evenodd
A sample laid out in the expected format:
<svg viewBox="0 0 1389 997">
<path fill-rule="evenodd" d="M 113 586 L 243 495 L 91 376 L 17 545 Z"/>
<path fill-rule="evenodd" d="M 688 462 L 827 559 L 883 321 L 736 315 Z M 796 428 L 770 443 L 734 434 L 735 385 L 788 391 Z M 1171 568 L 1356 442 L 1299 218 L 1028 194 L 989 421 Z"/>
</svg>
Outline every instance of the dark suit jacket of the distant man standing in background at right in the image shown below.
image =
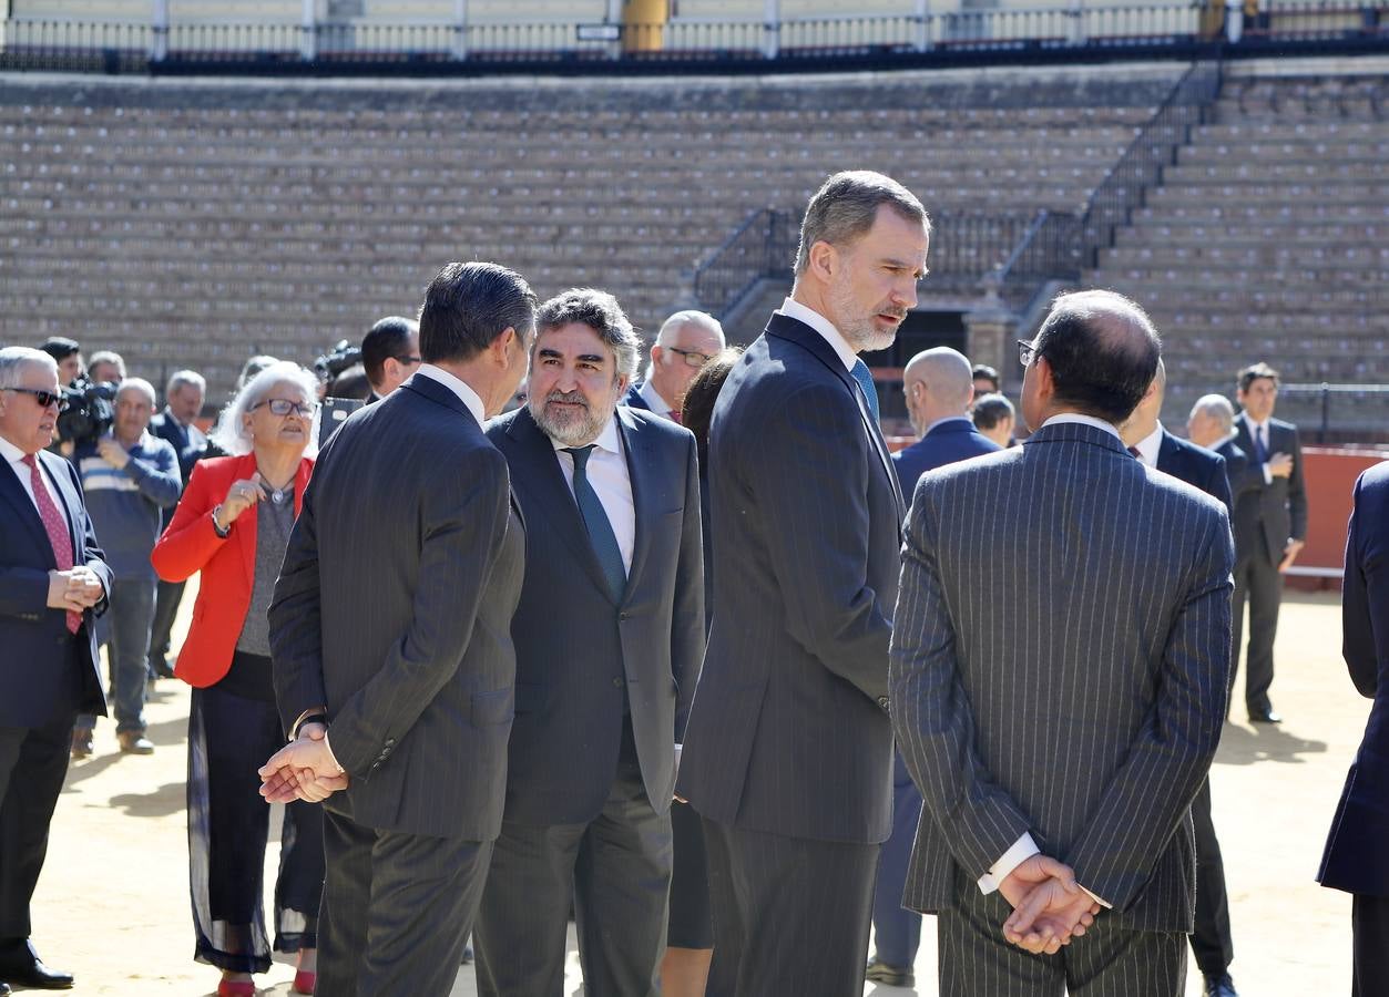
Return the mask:
<svg viewBox="0 0 1389 997">
<path fill-rule="evenodd" d="M 1243 557 L 1263 557 L 1278 564 L 1289 539 L 1307 539 L 1307 489 L 1303 486 L 1301 443 L 1297 426 L 1279 419 L 1268 421 L 1268 455 L 1290 454 L 1293 472 L 1265 483 L 1258 462 L 1249 419 L 1240 412 L 1235 419 L 1235 443 L 1249 454 L 1257 475 L 1257 487 L 1235 498 L 1235 548 Z"/>
</svg>

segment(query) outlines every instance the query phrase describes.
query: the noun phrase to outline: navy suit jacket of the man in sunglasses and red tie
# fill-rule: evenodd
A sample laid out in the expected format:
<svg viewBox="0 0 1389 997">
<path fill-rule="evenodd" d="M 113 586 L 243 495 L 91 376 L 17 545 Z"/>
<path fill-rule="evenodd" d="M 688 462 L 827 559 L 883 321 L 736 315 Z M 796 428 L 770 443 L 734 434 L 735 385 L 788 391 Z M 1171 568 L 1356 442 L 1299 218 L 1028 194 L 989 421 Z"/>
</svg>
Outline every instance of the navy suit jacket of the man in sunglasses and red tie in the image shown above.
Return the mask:
<svg viewBox="0 0 1389 997">
<path fill-rule="evenodd" d="M 111 569 L 96 543 L 92 518 L 82 503 L 78 471 L 63 457 L 40 450 L 39 464 L 67 512 L 74 562 L 97 573 L 111 592 Z M 0 467 L 0 726 L 36 728 L 68 714 L 106 715 L 106 696 L 97 671 L 96 626 L 106 612 L 103 598 L 83 615 L 78 630 L 78 665 L 68 664 L 67 615 L 50 610 L 49 572 L 57 568 L 53 546 L 24 485 Z"/>
</svg>

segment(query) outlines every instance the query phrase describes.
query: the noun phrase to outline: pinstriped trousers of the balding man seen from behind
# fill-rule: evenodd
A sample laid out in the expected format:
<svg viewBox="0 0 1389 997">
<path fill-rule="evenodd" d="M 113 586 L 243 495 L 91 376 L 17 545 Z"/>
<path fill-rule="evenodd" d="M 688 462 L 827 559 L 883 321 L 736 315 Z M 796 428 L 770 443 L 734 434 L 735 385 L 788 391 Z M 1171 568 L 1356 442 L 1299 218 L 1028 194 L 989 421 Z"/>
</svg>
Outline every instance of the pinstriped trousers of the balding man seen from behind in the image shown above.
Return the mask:
<svg viewBox="0 0 1389 997">
<path fill-rule="evenodd" d="M 956 873 L 956 905 L 936 915 L 940 997 L 1182 997 L 1186 937 L 1131 932 L 1106 915 L 1056 955 L 1008 944 L 1003 922 L 1013 908 Z"/>
</svg>

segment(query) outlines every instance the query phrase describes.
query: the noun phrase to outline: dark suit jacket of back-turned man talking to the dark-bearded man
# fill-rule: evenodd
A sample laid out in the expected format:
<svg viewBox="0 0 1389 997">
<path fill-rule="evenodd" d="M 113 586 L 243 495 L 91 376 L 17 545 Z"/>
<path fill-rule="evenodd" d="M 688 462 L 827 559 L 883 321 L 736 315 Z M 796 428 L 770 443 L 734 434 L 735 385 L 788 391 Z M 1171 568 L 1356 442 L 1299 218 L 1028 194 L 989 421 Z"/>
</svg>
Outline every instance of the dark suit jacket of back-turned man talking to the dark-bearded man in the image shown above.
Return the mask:
<svg viewBox="0 0 1389 997">
<path fill-rule="evenodd" d="M 525 562 L 507 464 L 426 376 L 324 447 L 269 608 L 286 728 L 328 707 L 357 823 L 490 840 L 501 828 Z"/>
</svg>

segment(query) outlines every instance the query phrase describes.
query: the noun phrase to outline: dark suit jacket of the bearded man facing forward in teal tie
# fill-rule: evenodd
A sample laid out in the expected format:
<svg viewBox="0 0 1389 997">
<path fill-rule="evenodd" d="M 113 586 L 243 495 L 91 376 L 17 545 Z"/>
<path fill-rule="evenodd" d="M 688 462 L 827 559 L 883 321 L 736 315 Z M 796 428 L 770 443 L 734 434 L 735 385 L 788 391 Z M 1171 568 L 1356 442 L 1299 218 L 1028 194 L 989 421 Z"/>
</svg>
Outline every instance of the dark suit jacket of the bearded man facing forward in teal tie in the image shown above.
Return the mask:
<svg viewBox="0 0 1389 997">
<path fill-rule="evenodd" d="M 619 405 L 636 537 L 614 600 L 554 444 L 528 408 L 488 425 L 525 510 L 525 586 L 513 623 L 517 717 L 506 819 L 581 823 L 617 775 L 624 703 L 647 797 L 671 805 L 675 743 L 704 657 L 704 573 L 694 436 Z"/>
</svg>

